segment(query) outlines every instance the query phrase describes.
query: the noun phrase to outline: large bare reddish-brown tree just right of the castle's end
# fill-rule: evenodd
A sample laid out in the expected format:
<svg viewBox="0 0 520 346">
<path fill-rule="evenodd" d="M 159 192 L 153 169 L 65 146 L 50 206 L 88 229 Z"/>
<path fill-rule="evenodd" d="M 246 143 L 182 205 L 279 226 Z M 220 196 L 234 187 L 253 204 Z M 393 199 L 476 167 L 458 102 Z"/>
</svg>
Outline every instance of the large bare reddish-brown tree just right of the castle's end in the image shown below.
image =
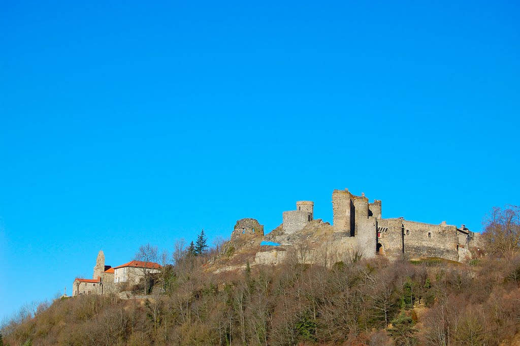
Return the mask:
<svg viewBox="0 0 520 346">
<path fill-rule="evenodd" d="M 520 250 L 520 207 L 495 207 L 484 218 L 484 239 L 488 253 L 513 257 Z"/>
</svg>

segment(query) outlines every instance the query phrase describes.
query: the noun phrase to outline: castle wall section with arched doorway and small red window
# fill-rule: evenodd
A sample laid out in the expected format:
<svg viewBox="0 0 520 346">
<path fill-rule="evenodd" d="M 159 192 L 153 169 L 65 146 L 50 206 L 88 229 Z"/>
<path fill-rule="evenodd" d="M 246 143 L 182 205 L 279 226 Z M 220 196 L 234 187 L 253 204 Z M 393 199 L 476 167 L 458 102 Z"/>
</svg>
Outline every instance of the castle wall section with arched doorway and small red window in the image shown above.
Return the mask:
<svg viewBox="0 0 520 346">
<path fill-rule="evenodd" d="M 402 219 L 378 220 L 378 249 L 389 259 L 402 258 Z"/>
</svg>

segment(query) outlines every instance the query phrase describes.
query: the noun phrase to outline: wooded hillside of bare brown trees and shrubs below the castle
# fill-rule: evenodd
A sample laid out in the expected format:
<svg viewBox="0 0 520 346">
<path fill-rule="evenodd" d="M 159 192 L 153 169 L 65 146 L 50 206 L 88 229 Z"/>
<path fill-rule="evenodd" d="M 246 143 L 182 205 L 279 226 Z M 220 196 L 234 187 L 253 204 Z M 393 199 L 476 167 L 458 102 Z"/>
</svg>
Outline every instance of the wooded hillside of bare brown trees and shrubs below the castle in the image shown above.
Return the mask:
<svg viewBox="0 0 520 346">
<path fill-rule="evenodd" d="M 177 251 L 157 276 L 162 293 L 57 300 L 6 323 L 3 342 L 509 345 L 520 330 L 520 255 L 507 249 L 464 264 L 355 254 L 326 267 L 294 254 L 279 266 L 218 275 L 206 270 L 207 257 Z"/>
</svg>

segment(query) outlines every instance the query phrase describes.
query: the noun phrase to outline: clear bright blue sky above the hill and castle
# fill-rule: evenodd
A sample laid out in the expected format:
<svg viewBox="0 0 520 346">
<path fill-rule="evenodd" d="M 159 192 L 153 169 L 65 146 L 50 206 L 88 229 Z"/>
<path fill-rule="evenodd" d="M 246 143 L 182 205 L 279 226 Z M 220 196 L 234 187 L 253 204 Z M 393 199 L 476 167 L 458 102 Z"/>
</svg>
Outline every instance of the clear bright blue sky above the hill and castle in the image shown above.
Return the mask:
<svg viewBox="0 0 520 346">
<path fill-rule="evenodd" d="M 513 1 L 0 3 L 0 318 L 335 188 L 480 230 L 520 204 Z"/>
</svg>

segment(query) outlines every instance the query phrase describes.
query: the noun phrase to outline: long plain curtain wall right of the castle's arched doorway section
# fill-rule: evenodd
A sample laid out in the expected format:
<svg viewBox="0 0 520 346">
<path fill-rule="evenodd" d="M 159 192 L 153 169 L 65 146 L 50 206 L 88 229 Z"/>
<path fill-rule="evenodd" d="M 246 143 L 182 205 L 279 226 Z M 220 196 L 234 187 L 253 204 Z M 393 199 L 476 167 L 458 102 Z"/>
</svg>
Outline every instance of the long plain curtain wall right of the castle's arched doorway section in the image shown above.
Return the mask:
<svg viewBox="0 0 520 346">
<path fill-rule="evenodd" d="M 457 226 L 403 220 L 404 249 L 409 258 L 439 257 L 458 261 Z"/>
</svg>

